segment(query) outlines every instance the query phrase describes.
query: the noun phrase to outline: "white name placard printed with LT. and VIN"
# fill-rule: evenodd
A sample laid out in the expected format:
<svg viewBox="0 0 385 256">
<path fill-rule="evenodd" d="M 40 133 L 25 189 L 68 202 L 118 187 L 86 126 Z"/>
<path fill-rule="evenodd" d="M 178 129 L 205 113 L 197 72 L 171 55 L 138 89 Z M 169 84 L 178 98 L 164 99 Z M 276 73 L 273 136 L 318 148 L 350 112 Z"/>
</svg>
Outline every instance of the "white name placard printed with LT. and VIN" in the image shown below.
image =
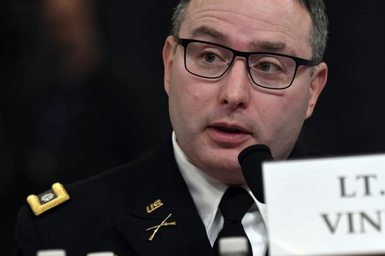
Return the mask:
<svg viewBox="0 0 385 256">
<path fill-rule="evenodd" d="M 385 255 L 385 154 L 262 168 L 271 256 Z"/>
</svg>

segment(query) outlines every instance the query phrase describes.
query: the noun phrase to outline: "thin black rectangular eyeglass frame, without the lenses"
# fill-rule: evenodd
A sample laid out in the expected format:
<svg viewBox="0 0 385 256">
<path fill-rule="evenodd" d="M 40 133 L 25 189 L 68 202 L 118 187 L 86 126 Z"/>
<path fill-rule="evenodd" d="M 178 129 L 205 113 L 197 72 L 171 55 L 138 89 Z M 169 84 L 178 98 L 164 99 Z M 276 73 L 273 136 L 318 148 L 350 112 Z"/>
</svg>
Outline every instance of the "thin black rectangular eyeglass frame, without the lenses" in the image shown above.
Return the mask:
<svg viewBox="0 0 385 256">
<path fill-rule="evenodd" d="M 233 52 L 233 59 L 231 60 L 231 62 L 229 63 L 228 67 L 226 68 L 226 70 L 222 73 L 222 75 L 220 76 L 216 76 L 216 77 L 208 77 L 208 76 L 201 76 L 201 75 L 197 75 L 195 73 L 192 73 L 190 70 L 188 70 L 187 68 L 187 65 L 186 65 L 186 52 L 187 52 L 187 45 L 189 43 L 205 43 L 205 44 L 208 44 L 208 45 L 214 45 L 214 46 L 218 46 L 218 47 L 222 47 L 226 50 L 229 50 L 231 52 Z M 271 53 L 271 52 L 240 52 L 240 51 L 237 51 L 237 50 L 234 50 L 234 49 L 231 49 L 229 47 L 226 47 L 224 45 L 219 45 L 218 43 L 211 43 L 211 42 L 206 42 L 206 41 L 201 41 L 201 40 L 195 40 L 195 39 L 186 39 L 186 38 L 179 38 L 178 39 L 178 44 L 179 45 L 182 45 L 183 48 L 184 48 L 184 67 L 186 68 L 186 70 L 191 73 L 192 75 L 195 75 L 195 76 L 199 76 L 199 77 L 203 77 L 203 78 L 209 78 L 209 79 L 216 79 L 216 78 L 219 78 L 221 76 L 223 76 L 228 70 L 229 68 L 231 67 L 231 65 L 233 64 L 234 62 L 234 59 L 236 57 L 244 57 L 246 59 L 246 65 L 247 65 L 247 70 L 249 71 L 249 75 L 251 77 L 251 80 L 253 80 L 253 82 L 258 85 L 258 83 L 256 83 L 254 81 L 254 78 L 253 76 L 251 75 L 251 68 L 249 66 L 249 57 L 250 55 L 253 55 L 253 54 L 268 54 L 268 55 L 275 55 L 275 56 L 281 56 L 281 57 L 287 57 L 287 58 L 291 58 L 292 60 L 295 61 L 295 71 L 294 71 L 294 75 L 293 75 L 293 79 L 291 80 L 290 84 L 286 87 L 283 87 L 283 88 L 271 88 L 271 87 L 266 87 L 266 86 L 262 86 L 262 85 L 258 85 L 260 87 L 263 87 L 263 88 L 267 88 L 267 89 L 273 89 L 273 90 L 282 90 L 282 89 L 286 89 L 288 87 L 291 86 L 291 84 L 293 83 L 294 81 L 294 78 L 295 78 L 295 75 L 297 73 L 297 70 L 298 70 L 298 67 L 299 66 L 316 66 L 318 65 L 319 63 L 318 62 L 315 62 L 313 60 L 306 60 L 306 59 L 303 59 L 303 58 L 298 58 L 298 57 L 295 57 L 295 56 L 290 56 L 290 55 L 285 55 L 285 54 L 281 54 L 281 53 Z"/>
</svg>

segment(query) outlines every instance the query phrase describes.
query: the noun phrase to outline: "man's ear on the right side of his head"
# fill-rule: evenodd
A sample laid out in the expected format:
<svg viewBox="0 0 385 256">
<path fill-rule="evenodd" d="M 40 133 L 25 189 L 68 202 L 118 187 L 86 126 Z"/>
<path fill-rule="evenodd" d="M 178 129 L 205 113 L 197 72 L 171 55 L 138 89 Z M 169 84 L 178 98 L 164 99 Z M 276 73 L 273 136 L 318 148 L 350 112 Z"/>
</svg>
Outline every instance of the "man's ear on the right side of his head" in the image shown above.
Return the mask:
<svg viewBox="0 0 385 256">
<path fill-rule="evenodd" d="M 326 80 L 328 79 L 328 66 L 325 62 L 321 62 L 315 68 L 313 76 L 310 81 L 310 94 L 309 94 L 309 105 L 308 111 L 306 112 L 305 119 L 309 118 L 313 113 L 315 103 L 317 103 L 318 96 L 325 87 Z"/>
</svg>

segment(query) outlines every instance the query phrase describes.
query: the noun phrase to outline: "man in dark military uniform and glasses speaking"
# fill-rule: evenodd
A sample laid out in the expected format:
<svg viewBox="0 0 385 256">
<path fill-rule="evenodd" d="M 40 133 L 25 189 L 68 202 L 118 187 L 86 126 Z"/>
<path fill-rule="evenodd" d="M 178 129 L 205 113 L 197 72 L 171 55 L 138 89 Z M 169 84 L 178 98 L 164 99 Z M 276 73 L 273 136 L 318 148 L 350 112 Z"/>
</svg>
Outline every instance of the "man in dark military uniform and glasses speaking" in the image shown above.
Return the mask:
<svg viewBox="0 0 385 256">
<path fill-rule="evenodd" d="M 313 154 L 295 142 L 326 83 L 323 2 L 181 1 L 173 22 L 163 49 L 172 139 L 149 158 L 66 186 L 69 200 L 58 184 L 29 198 L 39 216 L 20 211 L 23 255 L 214 255 L 227 221 L 220 202 L 240 187 L 251 198 L 242 232 L 253 255 L 266 253 L 265 205 L 237 158 L 253 144 L 274 159 Z"/>
</svg>

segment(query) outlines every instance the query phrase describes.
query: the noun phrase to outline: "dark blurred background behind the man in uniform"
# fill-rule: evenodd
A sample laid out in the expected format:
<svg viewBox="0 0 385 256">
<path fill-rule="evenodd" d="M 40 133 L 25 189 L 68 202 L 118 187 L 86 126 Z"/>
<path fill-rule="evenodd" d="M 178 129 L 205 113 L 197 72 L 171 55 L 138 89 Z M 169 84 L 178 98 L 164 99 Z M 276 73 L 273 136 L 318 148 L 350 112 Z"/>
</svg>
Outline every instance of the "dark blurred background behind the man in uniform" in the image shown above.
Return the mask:
<svg viewBox="0 0 385 256">
<path fill-rule="evenodd" d="M 161 51 L 178 0 L 13 0 L 0 19 L 0 244 L 28 194 L 147 154 L 171 131 Z M 328 83 L 300 142 L 385 151 L 385 2 L 326 0 Z M 4 246 L 2 246 L 4 247 Z"/>
</svg>

